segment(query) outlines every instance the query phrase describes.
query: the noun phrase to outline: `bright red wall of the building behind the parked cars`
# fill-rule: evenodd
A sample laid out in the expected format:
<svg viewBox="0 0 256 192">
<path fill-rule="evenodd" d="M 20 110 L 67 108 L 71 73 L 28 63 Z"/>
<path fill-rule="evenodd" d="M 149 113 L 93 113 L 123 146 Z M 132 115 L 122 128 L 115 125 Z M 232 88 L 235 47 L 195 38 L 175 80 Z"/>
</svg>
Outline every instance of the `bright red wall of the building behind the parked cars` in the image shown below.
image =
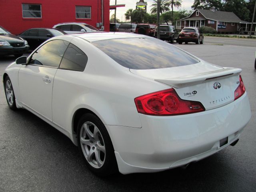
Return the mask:
<svg viewBox="0 0 256 192">
<path fill-rule="evenodd" d="M 103 0 L 105 31 L 109 31 L 109 0 Z M 42 18 L 22 18 L 22 3 L 41 4 Z M 75 6 L 91 6 L 91 19 L 76 19 Z M 52 28 L 62 22 L 102 22 L 101 0 L 0 0 L 0 25 L 13 34 L 29 28 Z"/>
</svg>

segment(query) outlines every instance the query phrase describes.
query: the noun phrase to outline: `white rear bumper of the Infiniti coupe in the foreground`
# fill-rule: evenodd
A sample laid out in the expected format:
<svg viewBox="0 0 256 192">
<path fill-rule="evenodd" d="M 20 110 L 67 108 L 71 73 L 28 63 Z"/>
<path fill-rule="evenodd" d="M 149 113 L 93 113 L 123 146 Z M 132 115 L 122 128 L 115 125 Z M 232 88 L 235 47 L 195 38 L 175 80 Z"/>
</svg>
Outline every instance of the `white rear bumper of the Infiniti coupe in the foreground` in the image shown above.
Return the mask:
<svg viewBox="0 0 256 192">
<path fill-rule="evenodd" d="M 122 174 L 158 172 L 206 158 L 239 138 L 251 112 L 245 93 L 226 106 L 196 114 L 139 116 L 142 128 L 106 126 Z"/>
</svg>

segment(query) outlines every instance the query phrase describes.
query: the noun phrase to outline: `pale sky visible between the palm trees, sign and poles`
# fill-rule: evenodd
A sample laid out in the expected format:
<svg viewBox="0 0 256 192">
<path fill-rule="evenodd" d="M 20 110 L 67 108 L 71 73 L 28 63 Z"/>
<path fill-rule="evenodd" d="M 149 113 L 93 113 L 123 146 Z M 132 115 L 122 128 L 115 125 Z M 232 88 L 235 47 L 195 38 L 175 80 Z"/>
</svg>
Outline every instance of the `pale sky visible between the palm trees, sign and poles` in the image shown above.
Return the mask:
<svg viewBox="0 0 256 192">
<path fill-rule="evenodd" d="M 117 0 L 116 4 L 125 4 L 125 7 L 119 7 L 116 9 L 116 17 L 118 19 L 120 19 L 120 21 L 125 20 L 125 16 L 124 14 L 126 13 L 126 11 L 128 9 L 136 9 L 136 2 L 139 2 L 140 0 Z M 148 3 L 147 6 L 147 12 L 150 13 L 150 9 L 152 7 L 150 7 L 153 3 L 153 0 L 144 0 L 145 2 Z M 191 10 L 191 6 L 193 5 L 194 0 L 182 0 L 182 6 L 181 9 L 186 9 L 186 10 Z M 115 4 L 115 0 L 110 0 L 110 5 L 114 5 Z M 176 11 L 177 9 L 174 8 L 174 11 Z M 110 12 L 110 16 L 114 14 L 114 10 L 112 10 Z"/>
</svg>

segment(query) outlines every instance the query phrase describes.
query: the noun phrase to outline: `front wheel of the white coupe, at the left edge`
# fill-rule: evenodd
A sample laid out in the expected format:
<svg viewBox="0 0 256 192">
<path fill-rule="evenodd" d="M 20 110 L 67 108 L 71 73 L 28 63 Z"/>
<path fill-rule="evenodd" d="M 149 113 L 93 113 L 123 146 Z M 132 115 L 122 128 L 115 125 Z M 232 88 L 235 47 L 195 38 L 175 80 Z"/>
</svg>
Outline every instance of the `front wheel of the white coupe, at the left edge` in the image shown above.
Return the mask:
<svg viewBox="0 0 256 192">
<path fill-rule="evenodd" d="M 15 102 L 14 90 L 12 88 L 12 82 L 9 76 L 6 76 L 6 78 L 4 79 L 4 92 L 9 108 L 12 110 L 16 110 L 17 106 Z"/>
</svg>

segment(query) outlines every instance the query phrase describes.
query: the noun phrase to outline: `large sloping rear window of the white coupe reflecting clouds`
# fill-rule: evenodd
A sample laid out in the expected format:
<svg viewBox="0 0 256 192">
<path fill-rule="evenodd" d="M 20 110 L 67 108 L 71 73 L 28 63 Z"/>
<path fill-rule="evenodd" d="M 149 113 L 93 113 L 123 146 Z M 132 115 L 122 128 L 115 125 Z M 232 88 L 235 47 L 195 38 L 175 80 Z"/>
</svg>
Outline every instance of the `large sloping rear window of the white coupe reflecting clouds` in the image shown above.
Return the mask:
<svg viewBox="0 0 256 192">
<path fill-rule="evenodd" d="M 199 61 L 155 38 L 124 38 L 92 42 L 120 65 L 130 69 L 158 69 Z"/>
</svg>

